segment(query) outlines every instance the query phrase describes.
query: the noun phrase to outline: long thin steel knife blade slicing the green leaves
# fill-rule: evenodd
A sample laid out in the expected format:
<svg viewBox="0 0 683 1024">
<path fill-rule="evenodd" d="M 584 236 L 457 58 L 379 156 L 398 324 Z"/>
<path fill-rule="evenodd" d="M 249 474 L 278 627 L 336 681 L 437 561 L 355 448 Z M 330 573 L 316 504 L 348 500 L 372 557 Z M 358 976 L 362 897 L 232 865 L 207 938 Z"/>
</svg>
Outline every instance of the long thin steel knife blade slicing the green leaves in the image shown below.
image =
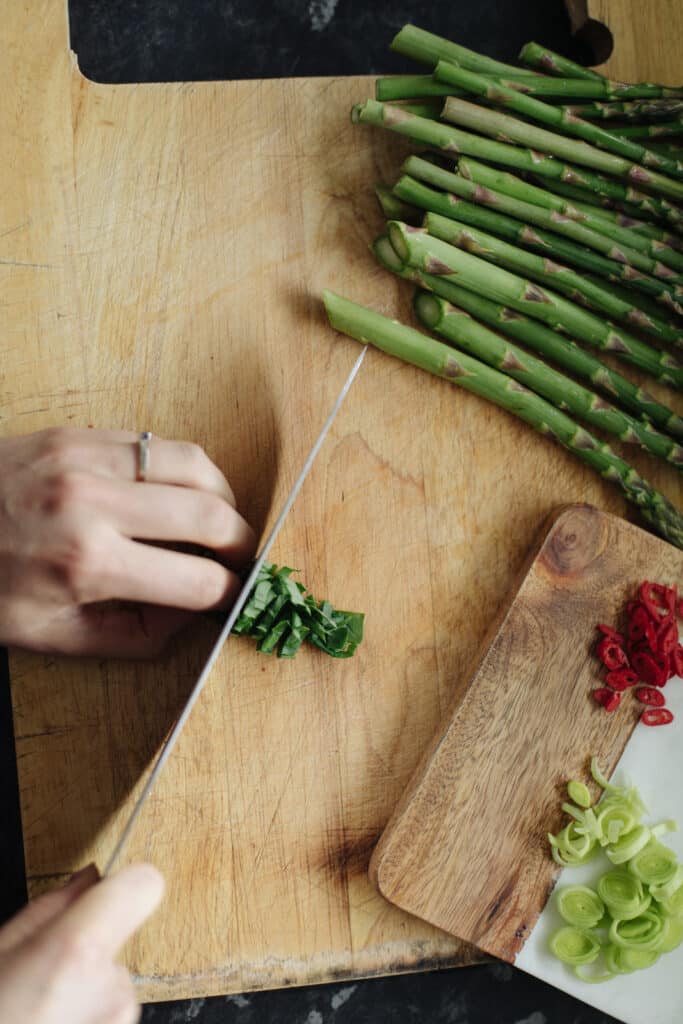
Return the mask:
<svg viewBox="0 0 683 1024">
<path fill-rule="evenodd" d="M 119 839 L 117 841 L 117 844 L 116 844 L 116 846 L 114 847 L 114 850 L 112 851 L 112 853 L 109 856 L 109 859 L 108 859 L 106 864 L 104 866 L 104 870 L 102 871 L 102 878 L 106 878 L 112 872 L 112 868 L 116 864 L 116 862 L 119 859 L 119 857 L 121 856 L 121 854 L 122 854 L 122 852 L 123 852 L 126 844 L 128 843 L 128 840 L 130 839 L 131 833 L 133 831 L 133 828 L 135 827 L 135 824 L 136 824 L 137 819 L 139 817 L 140 811 L 142 810 L 142 808 L 143 808 L 143 806 L 144 806 L 147 798 L 150 797 L 150 794 L 154 790 L 155 784 L 156 784 L 156 782 L 157 782 L 157 780 L 158 780 L 158 778 L 159 778 L 159 776 L 160 776 L 160 774 L 161 774 L 161 772 L 162 772 L 162 770 L 164 768 L 164 765 L 168 761 L 168 759 L 169 759 L 169 757 L 171 755 L 171 752 L 172 752 L 173 748 L 175 746 L 175 744 L 177 742 L 178 736 L 182 732 L 182 730 L 184 728 L 184 725 L 185 725 L 185 722 L 189 718 L 191 710 L 195 707 L 195 705 L 197 703 L 197 700 L 199 699 L 200 693 L 204 689 L 204 685 L 205 685 L 207 679 L 209 678 L 209 675 L 211 674 L 211 670 L 213 669 L 214 665 L 216 664 L 218 655 L 220 654 L 220 651 L 222 650 L 223 644 L 225 643 L 225 641 L 227 640 L 228 636 L 230 635 L 230 631 L 232 630 L 232 627 L 234 626 L 236 622 L 238 621 L 238 616 L 240 615 L 240 612 L 242 611 L 244 605 L 247 602 L 247 598 L 249 597 L 249 595 L 251 593 L 251 590 L 252 590 L 252 587 L 254 586 L 254 583 L 256 581 L 256 578 L 257 578 L 258 573 L 261 570 L 261 566 L 263 565 L 263 562 L 265 561 L 265 559 L 268 557 L 268 552 L 270 551 L 270 548 L 272 547 L 272 545 L 273 545 L 273 543 L 275 541 L 275 538 L 278 537 L 278 534 L 280 532 L 281 526 L 285 522 L 285 519 L 287 518 L 290 509 L 294 505 L 294 502 L 296 500 L 297 495 L 299 494 L 299 490 L 301 489 L 303 481 L 306 479 L 306 477 L 308 475 L 308 471 L 310 470 L 310 467 L 313 465 L 313 462 L 315 461 L 315 457 L 316 457 L 317 453 L 319 452 L 321 447 L 323 446 L 323 442 L 324 442 L 325 438 L 327 437 L 328 431 L 330 430 L 330 427 L 332 426 L 332 424 L 333 424 L 333 422 L 335 420 L 335 417 L 337 416 L 337 413 L 339 412 L 339 409 L 340 409 L 340 407 L 341 407 L 344 398 L 348 394 L 349 388 L 351 387 L 351 384 L 353 383 L 353 381 L 354 381 L 354 379 L 355 379 L 355 377 L 356 377 L 356 375 L 357 375 L 357 373 L 358 373 L 358 371 L 360 369 L 360 366 L 362 364 L 362 360 L 364 360 L 364 358 L 366 356 L 366 352 L 367 351 L 368 351 L 368 345 L 366 345 L 364 347 L 362 351 L 360 352 L 360 354 L 358 355 L 357 359 L 353 364 L 353 367 L 351 368 L 351 372 L 349 373 L 348 377 L 346 378 L 344 386 L 342 387 L 341 391 L 339 392 L 339 395 L 337 396 L 337 399 L 336 399 L 334 406 L 332 407 L 332 410 L 330 411 L 330 415 L 328 416 L 327 420 L 325 421 L 325 423 L 323 425 L 323 428 L 322 428 L 319 434 L 317 435 L 312 449 L 308 453 L 306 461 L 303 464 L 303 468 L 301 469 L 301 472 L 299 473 L 297 479 L 295 480 L 294 485 L 293 485 L 292 489 L 290 490 L 290 493 L 289 493 L 289 495 L 287 497 L 287 500 L 285 501 L 285 504 L 283 505 L 282 511 L 281 511 L 280 515 L 278 516 L 272 529 L 268 534 L 268 536 L 267 536 L 267 538 L 266 538 L 266 540 L 265 540 L 265 542 L 263 544 L 263 547 L 261 548 L 259 556 L 256 559 L 256 561 L 254 562 L 254 565 L 253 565 L 253 567 L 252 567 L 249 575 L 247 577 L 242 590 L 240 591 L 240 594 L 238 596 L 237 601 L 234 602 L 234 604 L 230 608 L 229 614 L 228 614 L 227 618 L 225 620 L 225 624 L 224 624 L 222 630 L 220 631 L 220 633 L 218 635 L 218 639 L 216 640 L 216 642 L 214 643 L 213 647 L 211 648 L 209 656 L 207 657 L 206 662 L 204 663 L 204 667 L 202 668 L 202 671 L 200 672 L 199 676 L 197 677 L 197 681 L 195 682 L 195 685 L 194 685 L 194 687 L 193 687 L 193 689 L 190 691 L 190 694 L 187 697 L 185 706 L 182 709 L 182 711 L 180 712 L 178 718 L 175 720 L 175 724 L 173 725 L 171 731 L 169 732 L 168 736 L 166 737 L 166 740 L 165 740 L 164 744 L 162 745 L 161 751 L 159 752 L 159 755 L 157 757 L 155 765 L 154 765 L 154 767 L 153 767 L 153 769 L 152 769 L 152 771 L 150 773 L 150 777 L 147 778 L 146 782 L 144 783 L 144 786 L 142 787 L 142 792 L 140 793 L 139 797 L 135 801 L 135 805 L 134 805 L 132 811 L 130 812 L 130 815 L 128 816 L 128 818 L 126 820 L 126 823 L 125 823 L 125 825 L 123 827 L 123 830 L 122 830 L 122 833 L 121 833 L 121 835 L 120 835 L 120 837 L 119 837 Z"/>
</svg>

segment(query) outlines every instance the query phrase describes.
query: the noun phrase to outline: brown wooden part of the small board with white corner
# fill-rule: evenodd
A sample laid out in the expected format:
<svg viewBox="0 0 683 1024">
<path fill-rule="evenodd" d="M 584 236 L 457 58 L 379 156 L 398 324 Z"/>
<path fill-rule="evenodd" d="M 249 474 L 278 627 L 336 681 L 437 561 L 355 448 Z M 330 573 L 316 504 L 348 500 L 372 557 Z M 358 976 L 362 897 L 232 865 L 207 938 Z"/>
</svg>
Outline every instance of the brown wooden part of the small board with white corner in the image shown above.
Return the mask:
<svg viewBox="0 0 683 1024">
<path fill-rule="evenodd" d="M 683 552 L 575 505 L 520 575 L 370 867 L 386 899 L 511 963 L 559 872 L 546 834 L 564 821 L 566 780 L 588 780 L 593 755 L 610 774 L 638 721 L 635 700 L 607 715 L 591 699 L 595 627 L 643 580 L 682 580 Z"/>
</svg>

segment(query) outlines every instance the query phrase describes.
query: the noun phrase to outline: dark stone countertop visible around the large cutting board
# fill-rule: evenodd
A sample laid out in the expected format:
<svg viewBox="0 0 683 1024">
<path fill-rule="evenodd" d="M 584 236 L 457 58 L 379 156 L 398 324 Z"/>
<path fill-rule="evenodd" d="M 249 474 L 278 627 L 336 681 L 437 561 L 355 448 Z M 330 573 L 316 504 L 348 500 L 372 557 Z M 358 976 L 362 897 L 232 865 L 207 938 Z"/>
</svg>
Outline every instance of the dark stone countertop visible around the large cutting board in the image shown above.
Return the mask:
<svg viewBox="0 0 683 1024">
<path fill-rule="evenodd" d="M 72 47 L 100 82 L 415 73 L 407 22 L 512 60 L 528 39 L 574 58 L 562 0 L 70 0 Z M 0 657 L 0 920 L 26 899 L 6 663 Z M 616 1024 L 503 964 L 148 1005 L 143 1024 Z"/>
</svg>

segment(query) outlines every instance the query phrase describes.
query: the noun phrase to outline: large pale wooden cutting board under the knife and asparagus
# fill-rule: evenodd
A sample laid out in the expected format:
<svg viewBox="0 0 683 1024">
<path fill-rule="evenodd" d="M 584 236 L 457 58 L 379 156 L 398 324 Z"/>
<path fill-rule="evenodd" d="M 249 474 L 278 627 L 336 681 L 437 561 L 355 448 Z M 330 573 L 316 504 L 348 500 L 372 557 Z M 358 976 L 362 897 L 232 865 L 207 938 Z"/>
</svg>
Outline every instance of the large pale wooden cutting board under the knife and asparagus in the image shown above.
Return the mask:
<svg viewBox="0 0 683 1024">
<path fill-rule="evenodd" d="M 369 79 L 89 82 L 65 8 L 3 10 L 0 430 L 193 438 L 263 527 L 357 350 L 322 289 L 410 315 L 367 250 L 371 186 L 404 146 L 350 126 Z M 680 501 L 673 470 L 634 461 Z M 571 501 L 625 512 L 509 417 L 370 354 L 273 552 L 365 609 L 367 640 L 348 663 L 227 645 L 129 850 L 168 883 L 126 952 L 143 998 L 472 959 L 382 900 L 368 861 L 540 523 Z M 198 620 L 157 665 L 12 653 L 32 893 L 103 862 L 213 630 Z"/>
</svg>

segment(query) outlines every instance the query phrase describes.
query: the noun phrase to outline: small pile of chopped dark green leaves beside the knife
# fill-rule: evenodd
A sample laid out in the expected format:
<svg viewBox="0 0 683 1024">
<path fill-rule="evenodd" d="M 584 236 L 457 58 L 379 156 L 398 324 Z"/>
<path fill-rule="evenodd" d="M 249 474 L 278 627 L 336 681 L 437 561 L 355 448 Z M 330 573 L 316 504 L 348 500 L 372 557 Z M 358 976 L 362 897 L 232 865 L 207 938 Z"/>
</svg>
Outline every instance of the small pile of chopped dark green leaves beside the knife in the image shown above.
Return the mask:
<svg viewBox="0 0 683 1024">
<path fill-rule="evenodd" d="M 292 580 L 294 571 L 265 562 L 232 632 L 253 637 L 262 654 L 276 650 L 278 657 L 294 657 L 306 640 L 332 657 L 351 657 L 362 640 L 365 615 L 316 601 Z"/>
</svg>

